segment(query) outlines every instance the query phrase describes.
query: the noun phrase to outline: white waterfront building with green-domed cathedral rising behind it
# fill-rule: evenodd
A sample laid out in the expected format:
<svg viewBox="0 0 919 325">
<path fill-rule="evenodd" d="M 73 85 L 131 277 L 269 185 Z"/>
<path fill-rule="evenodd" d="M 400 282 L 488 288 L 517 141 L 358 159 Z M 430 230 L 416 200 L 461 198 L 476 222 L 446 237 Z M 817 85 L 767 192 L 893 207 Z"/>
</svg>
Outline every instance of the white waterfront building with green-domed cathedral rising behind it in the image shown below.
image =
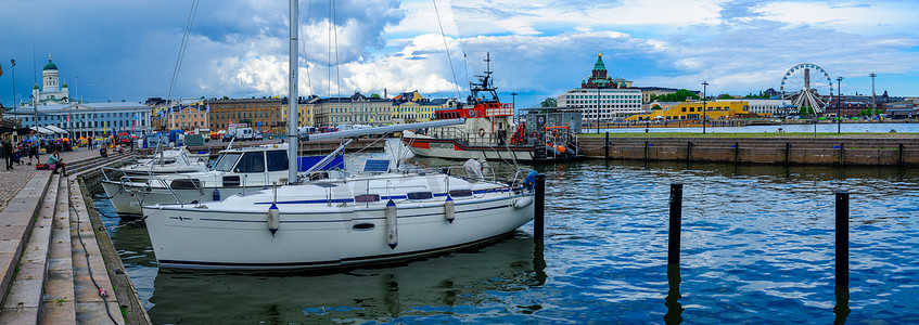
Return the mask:
<svg viewBox="0 0 919 325">
<path fill-rule="evenodd" d="M 641 90 L 631 88 L 631 81 L 608 76 L 602 54 L 588 79 L 580 88 L 569 90 L 557 96 L 559 107 L 576 108 L 582 112 L 584 122 L 623 119 L 641 113 Z"/>
</svg>

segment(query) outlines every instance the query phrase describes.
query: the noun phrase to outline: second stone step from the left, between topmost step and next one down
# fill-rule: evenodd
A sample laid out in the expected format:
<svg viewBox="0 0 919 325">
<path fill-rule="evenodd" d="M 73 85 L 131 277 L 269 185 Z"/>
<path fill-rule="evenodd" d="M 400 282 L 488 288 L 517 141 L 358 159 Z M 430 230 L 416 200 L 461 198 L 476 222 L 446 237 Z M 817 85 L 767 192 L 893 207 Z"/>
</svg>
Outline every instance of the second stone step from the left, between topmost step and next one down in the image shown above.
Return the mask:
<svg viewBox="0 0 919 325">
<path fill-rule="evenodd" d="M 61 178 L 53 176 L 3 299 L 0 324 L 36 324 L 48 268 L 48 247 Z"/>
</svg>

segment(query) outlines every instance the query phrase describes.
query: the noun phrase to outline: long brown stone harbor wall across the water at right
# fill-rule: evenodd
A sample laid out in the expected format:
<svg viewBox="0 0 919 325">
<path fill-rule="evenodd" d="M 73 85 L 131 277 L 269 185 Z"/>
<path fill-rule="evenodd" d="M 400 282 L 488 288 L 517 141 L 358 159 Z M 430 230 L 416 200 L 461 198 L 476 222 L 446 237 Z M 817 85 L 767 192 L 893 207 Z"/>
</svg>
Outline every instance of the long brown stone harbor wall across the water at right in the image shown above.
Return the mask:
<svg viewBox="0 0 919 325">
<path fill-rule="evenodd" d="M 919 165 L 919 138 L 578 139 L 588 158 L 834 166 Z M 609 153 L 608 153 L 609 152 Z"/>
</svg>

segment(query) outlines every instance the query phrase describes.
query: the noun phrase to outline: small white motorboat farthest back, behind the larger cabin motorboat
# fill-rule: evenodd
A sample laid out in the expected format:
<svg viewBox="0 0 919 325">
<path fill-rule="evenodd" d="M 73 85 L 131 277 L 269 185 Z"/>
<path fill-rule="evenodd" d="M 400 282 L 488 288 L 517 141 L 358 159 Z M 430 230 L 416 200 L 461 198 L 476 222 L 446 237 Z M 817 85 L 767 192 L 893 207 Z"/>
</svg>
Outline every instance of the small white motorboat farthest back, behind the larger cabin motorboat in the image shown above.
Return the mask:
<svg viewBox="0 0 919 325">
<path fill-rule="evenodd" d="M 186 147 L 164 150 L 153 157 L 138 159 L 136 164 L 118 168 L 129 176 L 186 173 L 207 171 L 207 159 L 192 156 Z"/>
</svg>

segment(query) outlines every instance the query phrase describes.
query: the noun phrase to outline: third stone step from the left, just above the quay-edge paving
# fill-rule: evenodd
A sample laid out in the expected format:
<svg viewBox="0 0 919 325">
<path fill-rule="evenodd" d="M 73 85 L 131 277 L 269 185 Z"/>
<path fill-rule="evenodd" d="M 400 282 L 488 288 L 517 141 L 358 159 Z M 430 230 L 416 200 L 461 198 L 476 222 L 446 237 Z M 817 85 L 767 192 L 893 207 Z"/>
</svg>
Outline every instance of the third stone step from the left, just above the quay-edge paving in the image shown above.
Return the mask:
<svg viewBox="0 0 919 325">
<path fill-rule="evenodd" d="M 74 264 L 71 246 L 71 203 L 67 180 L 58 187 L 58 205 L 51 227 L 48 275 L 39 324 L 76 324 Z"/>
</svg>

